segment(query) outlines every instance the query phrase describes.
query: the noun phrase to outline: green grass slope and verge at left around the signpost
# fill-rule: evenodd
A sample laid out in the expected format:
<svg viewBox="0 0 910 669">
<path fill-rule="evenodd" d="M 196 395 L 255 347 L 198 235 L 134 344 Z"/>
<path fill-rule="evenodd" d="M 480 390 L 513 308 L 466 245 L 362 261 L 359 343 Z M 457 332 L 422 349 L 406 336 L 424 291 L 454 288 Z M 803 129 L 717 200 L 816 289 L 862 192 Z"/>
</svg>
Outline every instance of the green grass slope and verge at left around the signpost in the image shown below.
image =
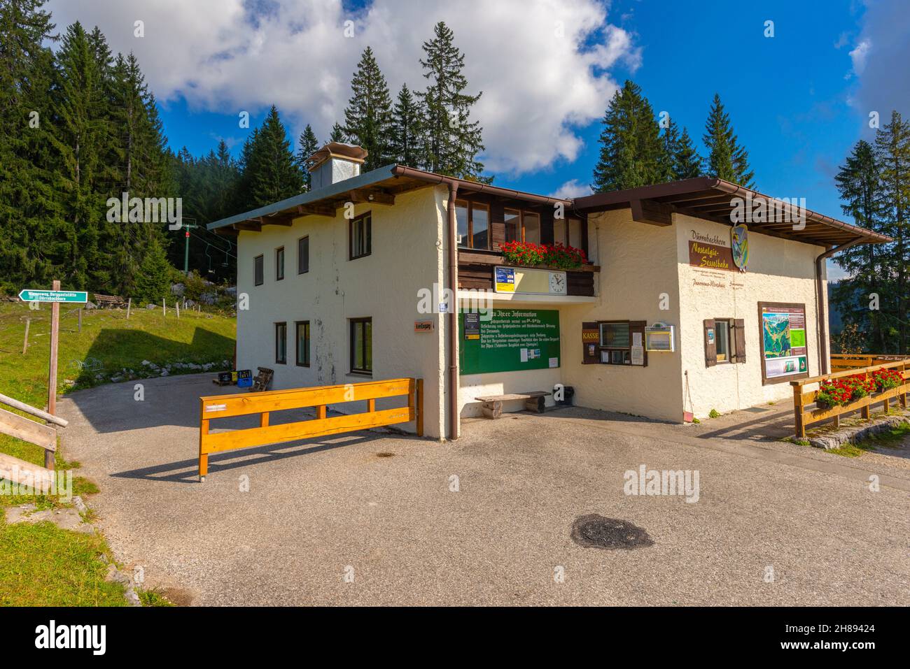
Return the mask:
<svg viewBox="0 0 910 669">
<path fill-rule="evenodd" d="M 49 305 L 33 311 L 17 303 L 0 303 L 0 393 L 40 409 L 47 405 L 50 315 Z M 26 318 L 30 319 L 28 350 L 23 355 Z M 134 308 L 129 320 L 126 310 L 84 310 L 80 333 L 76 306 L 61 305 L 57 389 L 63 393 L 112 379 L 160 375 L 143 361 L 159 366 L 213 364 L 214 373 L 222 368 L 222 361 L 233 357 L 236 333 L 233 317 L 189 311 L 178 320 L 168 309 L 166 320 L 160 306 Z M 170 374 L 200 371 L 172 367 Z M 78 463 L 65 459 L 66 428 L 60 429 L 60 435 L 56 468 L 76 469 Z M 0 434 L 0 453 L 44 464 L 42 448 L 5 434 Z M 73 494 L 98 492 L 75 473 L 73 487 Z M 35 503 L 39 509 L 60 504 L 40 495 L 0 495 L 0 512 L 6 505 L 25 503 Z M 8 525 L 0 520 L 0 605 L 124 605 L 123 586 L 105 581 L 106 564 L 98 556 L 106 552 L 106 542 L 99 536 L 61 530 L 52 523 Z M 145 603 L 159 604 L 152 599 L 157 596 Z"/>
</svg>

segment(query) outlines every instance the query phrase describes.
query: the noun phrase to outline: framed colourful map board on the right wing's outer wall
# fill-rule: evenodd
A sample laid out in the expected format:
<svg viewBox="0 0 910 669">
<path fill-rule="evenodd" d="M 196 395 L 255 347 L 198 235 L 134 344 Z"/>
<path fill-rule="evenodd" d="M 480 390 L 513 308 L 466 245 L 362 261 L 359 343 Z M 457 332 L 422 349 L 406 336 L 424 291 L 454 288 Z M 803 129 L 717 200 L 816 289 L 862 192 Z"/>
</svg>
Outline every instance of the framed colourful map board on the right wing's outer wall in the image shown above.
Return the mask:
<svg viewBox="0 0 910 669">
<path fill-rule="evenodd" d="M 762 328 L 762 384 L 780 384 L 809 376 L 805 305 L 758 303 Z"/>
</svg>

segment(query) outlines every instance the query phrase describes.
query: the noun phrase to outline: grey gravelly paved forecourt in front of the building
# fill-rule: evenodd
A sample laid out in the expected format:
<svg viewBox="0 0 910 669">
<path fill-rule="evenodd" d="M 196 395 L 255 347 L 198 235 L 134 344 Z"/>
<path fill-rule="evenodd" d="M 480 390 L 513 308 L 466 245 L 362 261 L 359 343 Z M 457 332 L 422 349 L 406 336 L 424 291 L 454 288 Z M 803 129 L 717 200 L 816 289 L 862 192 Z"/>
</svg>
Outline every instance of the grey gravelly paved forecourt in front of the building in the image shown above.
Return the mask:
<svg viewBox="0 0 910 669">
<path fill-rule="evenodd" d="M 887 460 L 566 409 L 465 420 L 457 443 L 357 433 L 220 454 L 199 484 L 209 378 L 58 404 L 115 554 L 182 602 L 910 604 L 910 472 Z M 698 501 L 624 494 L 642 464 L 697 471 Z M 587 514 L 653 544 L 583 547 Z"/>
</svg>

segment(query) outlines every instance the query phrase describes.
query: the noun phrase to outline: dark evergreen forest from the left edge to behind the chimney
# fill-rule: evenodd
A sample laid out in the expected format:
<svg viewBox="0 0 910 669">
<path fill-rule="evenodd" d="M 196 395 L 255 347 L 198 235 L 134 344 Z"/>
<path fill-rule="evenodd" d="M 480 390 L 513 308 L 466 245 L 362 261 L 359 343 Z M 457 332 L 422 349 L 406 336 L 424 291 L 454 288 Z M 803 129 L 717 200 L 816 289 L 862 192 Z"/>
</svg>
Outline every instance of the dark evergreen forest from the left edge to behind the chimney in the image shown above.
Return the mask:
<svg viewBox="0 0 910 669">
<path fill-rule="evenodd" d="M 237 159 L 221 141 L 207 155 L 175 154 L 136 58 L 76 23 L 62 33 L 45 0 L 0 0 L 0 291 L 49 285 L 157 300 L 183 268 L 232 280 L 237 249 L 205 225 L 309 187 L 307 160 L 322 144 L 306 125 L 292 146 L 272 106 Z M 51 48 L 50 45 L 55 45 Z M 461 74 L 464 55 L 444 23 L 423 45 L 426 88 L 403 85 L 394 104 L 368 47 L 351 80 L 342 123 L 329 137 L 390 163 L 483 180 L 480 98 Z M 110 222 L 107 201 L 180 197 L 184 227 Z"/>
</svg>

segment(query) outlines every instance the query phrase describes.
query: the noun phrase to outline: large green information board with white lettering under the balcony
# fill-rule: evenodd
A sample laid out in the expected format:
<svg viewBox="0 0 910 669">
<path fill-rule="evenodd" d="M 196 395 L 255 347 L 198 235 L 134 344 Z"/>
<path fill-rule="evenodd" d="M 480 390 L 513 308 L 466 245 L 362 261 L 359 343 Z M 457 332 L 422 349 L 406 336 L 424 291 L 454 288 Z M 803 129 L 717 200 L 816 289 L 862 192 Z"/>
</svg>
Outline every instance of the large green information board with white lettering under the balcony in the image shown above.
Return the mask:
<svg viewBox="0 0 910 669">
<path fill-rule="evenodd" d="M 493 309 L 491 315 L 459 314 L 461 374 L 515 372 L 560 366 L 560 313 L 555 310 Z M 480 336 L 477 327 L 480 325 Z"/>
</svg>

